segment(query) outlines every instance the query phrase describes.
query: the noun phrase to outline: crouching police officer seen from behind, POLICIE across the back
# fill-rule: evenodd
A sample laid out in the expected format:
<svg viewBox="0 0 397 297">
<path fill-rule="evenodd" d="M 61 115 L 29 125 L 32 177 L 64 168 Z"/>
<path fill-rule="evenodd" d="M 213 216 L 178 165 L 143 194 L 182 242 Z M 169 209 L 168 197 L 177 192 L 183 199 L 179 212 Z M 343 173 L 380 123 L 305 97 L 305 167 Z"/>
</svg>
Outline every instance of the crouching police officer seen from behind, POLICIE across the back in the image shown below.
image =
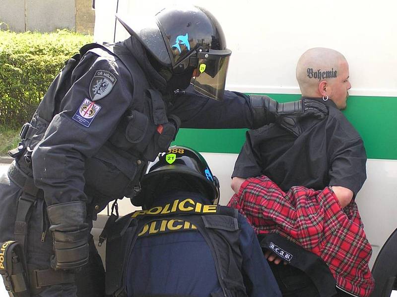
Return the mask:
<svg viewBox="0 0 397 297">
<path fill-rule="evenodd" d="M 254 229 L 236 209 L 214 205 L 219 183 L 197 151 L 159 154 L 141 187 L 143 210 L 107 226 L 107 294 L 281 296 Z"/>
</svg>

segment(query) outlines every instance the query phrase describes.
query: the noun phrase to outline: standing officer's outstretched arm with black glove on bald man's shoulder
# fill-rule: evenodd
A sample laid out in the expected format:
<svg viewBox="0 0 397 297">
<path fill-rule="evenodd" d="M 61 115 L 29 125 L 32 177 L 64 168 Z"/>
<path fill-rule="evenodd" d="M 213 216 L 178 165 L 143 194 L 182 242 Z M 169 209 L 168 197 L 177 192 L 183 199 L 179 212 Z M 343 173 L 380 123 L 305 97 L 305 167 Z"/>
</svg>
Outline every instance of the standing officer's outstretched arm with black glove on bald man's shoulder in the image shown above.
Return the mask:
<svg viewBox="0 0 397 297">
<path fill-rule="evenodd" d="M 179 92 L 169 104 L 169 112 L 182 120 L 183 128 L 250 128 L 277 122 L 299 135 L 297 119 L 304 116 L 324 118 L 327 107 L 321 102 L 303 99 L 278 103 L 267 96 L 225 91 L 223 100 L 204 97 L 193 89 Z"/>
</svg>

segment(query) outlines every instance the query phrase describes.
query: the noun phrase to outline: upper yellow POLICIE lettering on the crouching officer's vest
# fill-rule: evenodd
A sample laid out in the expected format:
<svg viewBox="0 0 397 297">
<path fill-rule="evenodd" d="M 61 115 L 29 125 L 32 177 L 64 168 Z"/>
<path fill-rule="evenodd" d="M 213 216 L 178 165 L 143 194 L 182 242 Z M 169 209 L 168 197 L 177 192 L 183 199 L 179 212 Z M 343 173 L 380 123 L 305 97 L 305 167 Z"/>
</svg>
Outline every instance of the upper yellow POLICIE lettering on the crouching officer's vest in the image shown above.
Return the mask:
<svg viewBox="0 0 397 297">
<path fill-rule="evenodd" d="M 165 204 L 164 206 L 154 206 L 150 209 L 137 210 L 132 213 L 132 218 L 137 216 L 147 216 L 147 215 L 168 215 L 170 213 L 216 213 L 217 205 L 206 205 L 199 202 L 195 202 L 191 198 L 180 201 L 176 199 L 172 203 Z"/>
</svg>

